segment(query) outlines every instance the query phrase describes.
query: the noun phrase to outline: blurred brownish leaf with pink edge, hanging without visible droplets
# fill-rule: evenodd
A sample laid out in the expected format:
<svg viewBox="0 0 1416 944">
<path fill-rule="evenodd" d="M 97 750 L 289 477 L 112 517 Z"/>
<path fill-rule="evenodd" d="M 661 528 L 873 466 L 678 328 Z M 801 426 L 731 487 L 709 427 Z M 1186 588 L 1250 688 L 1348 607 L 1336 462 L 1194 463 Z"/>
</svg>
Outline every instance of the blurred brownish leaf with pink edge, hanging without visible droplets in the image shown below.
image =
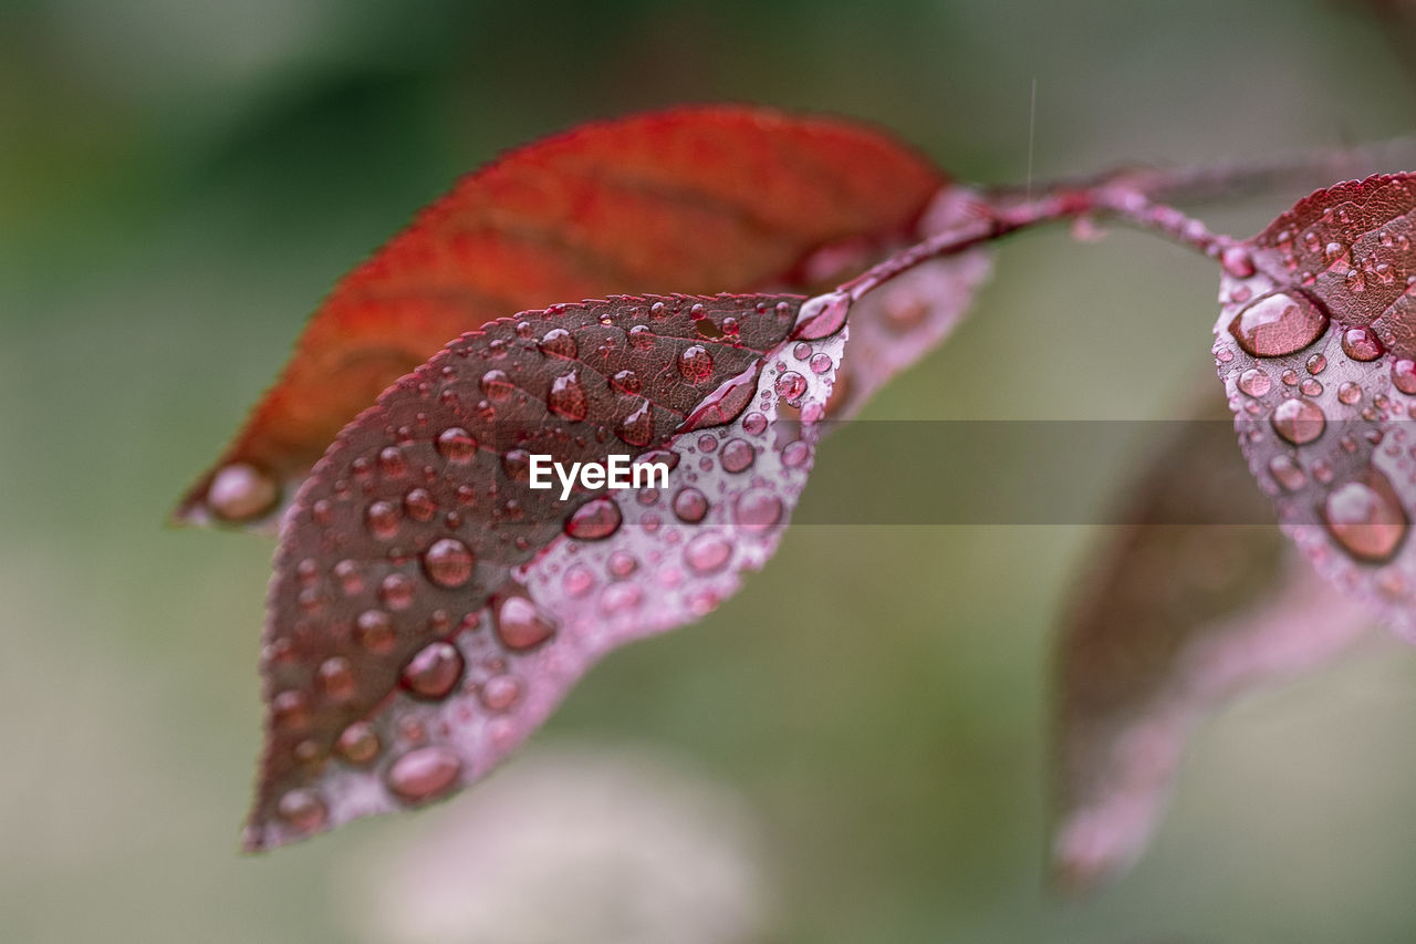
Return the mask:
<svg viewBox="0 0 1416 944">
<path fill-rule="evenodd" d="M 1208 712 L 1335 658 L 1371 622 L 1253 523 L 1272 510 L 1215 405 L 1147 463 L 1059 639 L 1052 869 L 1068 889 L 1144 852 Z"/>
</svg>

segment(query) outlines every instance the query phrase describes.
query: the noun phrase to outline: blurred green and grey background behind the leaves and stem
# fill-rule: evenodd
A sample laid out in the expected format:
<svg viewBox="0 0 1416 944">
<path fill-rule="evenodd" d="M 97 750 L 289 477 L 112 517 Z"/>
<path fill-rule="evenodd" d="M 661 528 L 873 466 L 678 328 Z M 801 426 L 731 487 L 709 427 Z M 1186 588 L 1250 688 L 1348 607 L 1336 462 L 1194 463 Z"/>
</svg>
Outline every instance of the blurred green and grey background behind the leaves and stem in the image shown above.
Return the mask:
<svg viewBox="0 0 1416 944">
<path fill-rule="evenodd" d="M 0 938 L 1413 940 L 1416 653 L 1386 638 L 1208 723 L 1131 875 L 1044 890 L 1080 524 L 796 529 L 484 788 L 236 852 L 270 544 L 163 520 L 333 279 L 498 150 L 683 101 L 867 118 L 1017 181 L 1034 78 L 1038 177 L 1416 105 L 1383 27 L 1313 1 L 0 3 Z M 1297 196 L 1202 215 L 1243 235 Z M 1178 415 L 1215 282 L 1144 235 L 1015 238 L 867 417 Z M 852 475 L 807 509 L 889 461 L 833 437 Z"/>
</svg>

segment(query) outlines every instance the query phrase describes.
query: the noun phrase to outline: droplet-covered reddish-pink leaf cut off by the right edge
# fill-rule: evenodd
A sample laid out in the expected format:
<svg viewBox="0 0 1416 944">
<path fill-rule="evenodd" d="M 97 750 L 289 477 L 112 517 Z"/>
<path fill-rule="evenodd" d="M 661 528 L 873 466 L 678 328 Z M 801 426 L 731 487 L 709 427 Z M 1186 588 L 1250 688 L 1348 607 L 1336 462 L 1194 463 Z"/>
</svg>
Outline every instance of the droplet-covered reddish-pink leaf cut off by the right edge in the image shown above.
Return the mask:
<svg viewBox="0 0 1416 944">
<path fill-rule="evenodd" d="M 1416 641 L 1413 180 L 1320 190 L 1228 249 L 1214 353 L 1284 532 Z"/>
</svg>

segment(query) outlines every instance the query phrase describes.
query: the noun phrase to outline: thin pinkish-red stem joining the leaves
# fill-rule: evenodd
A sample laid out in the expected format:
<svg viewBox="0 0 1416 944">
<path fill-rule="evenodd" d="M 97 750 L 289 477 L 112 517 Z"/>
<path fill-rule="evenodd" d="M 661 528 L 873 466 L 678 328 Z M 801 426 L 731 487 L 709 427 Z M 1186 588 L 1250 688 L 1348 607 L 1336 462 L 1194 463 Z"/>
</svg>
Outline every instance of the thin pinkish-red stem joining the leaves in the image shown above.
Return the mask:
<svg viewBox="0 0 1416 944">
<path fill-rule="evenodd" d="M 1028 198 L 1024 187 L 993 187 L 984 190 L 974 204 L 976 218 L 889 257 L 837 291 L 855 300 L 929 259 L 959 255 L 1042 223 L 1079 217 L 1117 220 L 1195 249 L 1205 258 L 1222 259 L 1238 241 L 1211 232 L 1204 223 L 1167 201 L 1214 200 L 1264 189 L 1314 186 L 1314 181 L 1323 186 L 1400 160 L 1416 162 L 1416 137 L 1249 164 L 1174 170 L 1126 167 L 1087 180 L 1054 183 L 1037 200 Z"/>
</svg>

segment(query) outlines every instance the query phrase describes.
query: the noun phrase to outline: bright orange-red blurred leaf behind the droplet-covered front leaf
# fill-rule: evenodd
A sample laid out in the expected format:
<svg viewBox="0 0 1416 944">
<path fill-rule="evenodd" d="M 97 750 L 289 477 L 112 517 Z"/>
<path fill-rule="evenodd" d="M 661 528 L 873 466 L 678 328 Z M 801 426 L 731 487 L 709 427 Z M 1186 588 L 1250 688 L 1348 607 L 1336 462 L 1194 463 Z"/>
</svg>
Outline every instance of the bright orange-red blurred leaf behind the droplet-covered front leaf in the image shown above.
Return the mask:
<svg viewBox="0 0 1416 944">
<path fill-rule="evenodd" d="M 927 211 L 936 194 L 943 208 Z M 637 115 L 513 150 L 340 281 L 176 519 L 273 529 L 346 422 L 490 319 L 616 292 L 824 289 L 915 241 L 922 220 L 957 217 L 964 194 L 884 133 L 766 108 Z M 929 266 L 943 310 L 896 293 L 879 346 L 905 363 L 926 350 L 986 266 L 978 252 Z M 871 369 L 852 400 L 879 383 Z"/>
</svg>

